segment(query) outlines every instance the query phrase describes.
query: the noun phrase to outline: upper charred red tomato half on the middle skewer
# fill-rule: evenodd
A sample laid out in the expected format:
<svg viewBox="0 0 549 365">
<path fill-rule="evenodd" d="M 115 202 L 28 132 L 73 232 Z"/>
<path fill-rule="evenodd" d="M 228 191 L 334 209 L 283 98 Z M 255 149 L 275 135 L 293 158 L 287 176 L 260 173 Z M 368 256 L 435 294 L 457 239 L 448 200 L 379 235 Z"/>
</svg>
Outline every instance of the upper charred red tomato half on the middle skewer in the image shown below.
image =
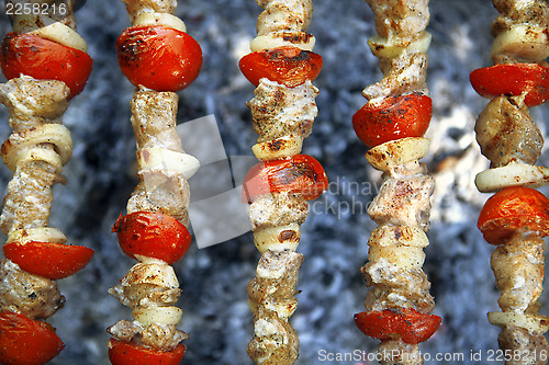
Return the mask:
<svg viewBox="0 0 549 365">
<path fill-rule="evenodd" d="M 242 72 L 254 85 L 257 87 L 261 78 L 267 78 L 289 88 L 316 79 L 322 65 L 320 55 L 291 46 L 257 50 L 238 62 Z"/>
</svg>

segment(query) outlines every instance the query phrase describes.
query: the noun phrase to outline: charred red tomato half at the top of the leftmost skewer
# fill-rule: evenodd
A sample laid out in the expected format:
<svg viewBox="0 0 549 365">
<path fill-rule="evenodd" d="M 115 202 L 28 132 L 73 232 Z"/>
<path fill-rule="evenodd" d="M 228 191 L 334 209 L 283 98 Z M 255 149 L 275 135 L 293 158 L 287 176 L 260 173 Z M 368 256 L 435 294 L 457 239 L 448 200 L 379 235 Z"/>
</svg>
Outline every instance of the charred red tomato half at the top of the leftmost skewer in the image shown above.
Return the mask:
<svg viewBox="0 0 549 365">
<path fill-rule="evenodd" d="M 9 33 L 0 46 L 0 66 L 8 80 L 21 73 L 37 80 L 59 80 L 78 95 L 91 73 L 92 59 L 80 49 L 31 34 Z"/>
</svg>

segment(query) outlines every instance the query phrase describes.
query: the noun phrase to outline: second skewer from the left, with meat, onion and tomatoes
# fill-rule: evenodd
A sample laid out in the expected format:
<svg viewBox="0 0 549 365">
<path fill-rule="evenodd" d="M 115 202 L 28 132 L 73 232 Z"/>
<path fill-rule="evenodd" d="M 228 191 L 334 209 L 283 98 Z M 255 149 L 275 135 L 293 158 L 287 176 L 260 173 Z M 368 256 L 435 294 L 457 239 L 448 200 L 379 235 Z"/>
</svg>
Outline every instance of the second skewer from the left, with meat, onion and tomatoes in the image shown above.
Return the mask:
<svg viewBox="0 0 549 365">
<path fill-rule="evenodd" d="M 171 264 L 191 243 L 188 179 L 199 168 L 176 133 L 177 91 L 189 85 L 202 66 L 202 50 L 173 15 L 176 1 L 125 0 L 132 20 L 116 42 L 122 72 L 137 88 L 132 126 L 137 145 L 139 183 L 127 214 L 114 227 L 122 251 L 138 261 L 109 293 L 132 308 L 108 332 L 112 364 L 179 364 L 188 334 L 176 327 L 182 310 Z"/>
</svg>

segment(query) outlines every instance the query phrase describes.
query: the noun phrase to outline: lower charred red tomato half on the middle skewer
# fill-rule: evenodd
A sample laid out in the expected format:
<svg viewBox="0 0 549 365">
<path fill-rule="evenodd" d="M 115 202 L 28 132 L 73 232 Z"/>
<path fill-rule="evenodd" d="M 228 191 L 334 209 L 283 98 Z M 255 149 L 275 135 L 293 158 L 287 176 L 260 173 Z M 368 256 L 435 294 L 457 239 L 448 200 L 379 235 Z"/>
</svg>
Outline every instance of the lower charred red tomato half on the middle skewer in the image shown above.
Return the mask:
<svg viewBox="0 0 549 365">
<path fill-rule="evenodd" d="M 270 193 L 301 194 L 305 199 L 318 197 L 328 187 L 321 163 L 309 155 L 295 155 L 288 160 L 264 161 L 255 164 L 243 184 L 243 201 L 253 203 Z"/>
</svg>

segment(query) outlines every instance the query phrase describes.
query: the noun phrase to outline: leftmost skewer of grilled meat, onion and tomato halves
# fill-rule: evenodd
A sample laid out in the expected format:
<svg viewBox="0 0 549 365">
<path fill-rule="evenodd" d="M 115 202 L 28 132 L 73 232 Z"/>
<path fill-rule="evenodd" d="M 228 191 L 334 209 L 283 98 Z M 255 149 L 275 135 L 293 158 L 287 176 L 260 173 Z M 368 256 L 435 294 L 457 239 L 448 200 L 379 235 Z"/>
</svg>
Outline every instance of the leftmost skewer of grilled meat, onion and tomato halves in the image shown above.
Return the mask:
<svg viewBox="0 0 549 365">
<path fill-rule="evenodd" d="M 5 9 L 21 3 L 7 1 Z M 65 181 L 63 166 L 72 151 L 63 114 L 82 91 L 92 61 L 76 33 L 72 2 L 46 4 L 38 14 L 12 14 L 13 32 L 0 46 L 9 80 L 0 85 L 0 102 L 13 128 L 1 156 L 14 172 L 0 216 L 8 235 L 0 261 L 2 364 L 40 365 L 57 356 L 64 344 L 42 320 L 64 306 L 56 281 L 83 269 L 93 255 L 91 249 L 66 244 L 59 229 L 47 227 L 52 185 Z"/>
</svg>

